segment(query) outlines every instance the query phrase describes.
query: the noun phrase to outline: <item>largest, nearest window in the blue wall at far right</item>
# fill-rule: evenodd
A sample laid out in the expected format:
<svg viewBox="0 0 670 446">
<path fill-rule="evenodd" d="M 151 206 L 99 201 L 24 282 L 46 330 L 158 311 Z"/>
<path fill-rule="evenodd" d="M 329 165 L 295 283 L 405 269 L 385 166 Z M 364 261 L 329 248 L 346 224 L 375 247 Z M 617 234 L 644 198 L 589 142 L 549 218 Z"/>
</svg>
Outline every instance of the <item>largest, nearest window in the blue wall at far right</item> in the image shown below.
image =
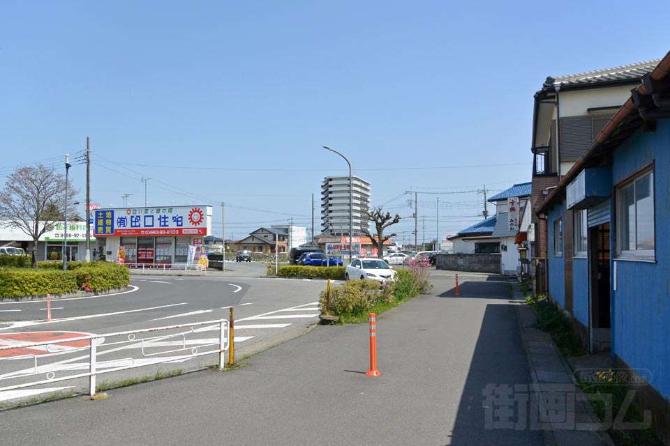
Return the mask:
<svg viewBox="0 0 670 446">
<path fill-rule="evenodd" d="M 618 257 L 655 257 L 654 172 L 643 171 L 616 190 L 616 254 Z"/>
</svg>

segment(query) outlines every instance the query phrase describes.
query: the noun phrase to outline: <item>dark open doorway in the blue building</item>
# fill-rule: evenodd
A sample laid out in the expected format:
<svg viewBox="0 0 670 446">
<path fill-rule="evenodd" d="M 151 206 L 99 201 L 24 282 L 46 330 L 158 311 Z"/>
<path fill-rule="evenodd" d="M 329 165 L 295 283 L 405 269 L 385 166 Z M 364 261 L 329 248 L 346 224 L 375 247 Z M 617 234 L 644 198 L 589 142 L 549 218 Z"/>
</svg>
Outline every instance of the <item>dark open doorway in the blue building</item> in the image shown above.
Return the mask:
<svg viewBox="0 0 670 446">
<path fill-rule="evenodd" d="M 588 229 L 590 282 L 590 352 L 611 348 L 609 223 Z"/>
</svg>

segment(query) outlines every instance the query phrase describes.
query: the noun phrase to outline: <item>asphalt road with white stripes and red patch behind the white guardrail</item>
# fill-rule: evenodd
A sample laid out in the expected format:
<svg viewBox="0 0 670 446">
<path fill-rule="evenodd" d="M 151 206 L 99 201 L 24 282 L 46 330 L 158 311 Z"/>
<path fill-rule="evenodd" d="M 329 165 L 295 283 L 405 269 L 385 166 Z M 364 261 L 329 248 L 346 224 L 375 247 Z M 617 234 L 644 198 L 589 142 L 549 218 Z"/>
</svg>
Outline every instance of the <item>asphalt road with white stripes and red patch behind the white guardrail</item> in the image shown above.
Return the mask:
<svg viewBox="0 0 670 446">
<path fill-rule="evenodd" d="M 195 332 L 179 327 L 156 334 L 138 334 L 133 338 L 108 335 L 111 333 L 228 320 L 230 307 L 234 307 L 235 351 L 239 357 L 240 352 L 253 351 L 254 346 L 265 348 L 269 339 L 281 336 L 283 332 L 306 328 L 318 321 L 316 302 L 326 286 L 324 281 L 262 277 L 265 275 L 262 263 L 233 263 L 227 269 L 203 277 L 131 275 L 131 287 L 122 293 L 52 300 L 54 321 L 45 320 L 44 301 L 1 303 L 0 315 L 4 321 L 0 324 L 0 345 L 42 340 L 36 336 L 50 339 L 60 333 L 70 338 L 80 334 L 105 335 L 98 346 L 101 361 L 98 371 L 105 367 L 124 367 L 130 362 L 145 366 L 114 371 L 101 377 L 119 380 L 156 371 L 198 369 L 215 364 L 218 355 L 189 360 L 181 355 L 195 349 L 200 353 L 216 351 L 218 347 L 212 344 L 218 342 L 220 330 L 210 324 L 193 328 Z M 13 320 L 8 321 L 7 316 Z M 145 342 L 152 337 L 153 340 Z M 225 337 L 228 337 L 227 333 Z M 135 342 L 129 342 L 129 339 Z M 207 346 L 209 349 L 205 348 Z M 54 348 L 26 349 L 20 352 L 25 356 L 22 360 L 2 360 L 3 356 L 16 352 L 0 351 L 0 387 L 51 380 L 54 376 L 61 378 L 87 369 L 85 342 L 55 348 L 62 352 L 45 355 L 47 351 L 52 353 Z M 177 351 L 180 348 L 182 351 Z M 173 360 L 161 362 L 166 359 Z M 82 388 L 85 384 L 86 380 L 79 378 L 42 385 L 41 388 L 66 390 L 72 386 Z M 33 389 L 0 392 L 0 401 L 32 396 L 36 392 L 38 390 Z"/>
</svg>

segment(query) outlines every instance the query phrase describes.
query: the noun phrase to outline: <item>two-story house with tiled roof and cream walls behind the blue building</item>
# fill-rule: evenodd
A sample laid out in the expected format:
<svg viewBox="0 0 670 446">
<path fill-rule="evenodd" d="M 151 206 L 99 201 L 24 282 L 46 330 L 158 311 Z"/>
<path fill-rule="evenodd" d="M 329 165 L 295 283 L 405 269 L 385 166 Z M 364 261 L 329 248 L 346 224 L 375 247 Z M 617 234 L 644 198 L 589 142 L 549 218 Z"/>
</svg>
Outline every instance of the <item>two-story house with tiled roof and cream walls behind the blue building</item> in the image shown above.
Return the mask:
<svg viewBox="0 0 670 446">
<path fill-rule="evenodd" d="M 537 208 L 546 195 L 558 185 L 576 160 L 583 155 L 591 141 L 638 86 L 643 75 L 653 70 L 659 60 L 583 72 L 576 75 L 547 77 L 542 89 L 535 93 L 531 151 L 533 178 L 530 203 L 529 244 L 533 247 L 534 289 L 548 289 L 546 275 L 549 230 L 546 220 L 537 217 Z M 566 210 L 563 234 L 572 236 L 572 212 Z M 565 253 L 565 275 L 571 277 L 572 252 Z M 566 291 L 567 306 L 572 295 Z"/>
</svg>

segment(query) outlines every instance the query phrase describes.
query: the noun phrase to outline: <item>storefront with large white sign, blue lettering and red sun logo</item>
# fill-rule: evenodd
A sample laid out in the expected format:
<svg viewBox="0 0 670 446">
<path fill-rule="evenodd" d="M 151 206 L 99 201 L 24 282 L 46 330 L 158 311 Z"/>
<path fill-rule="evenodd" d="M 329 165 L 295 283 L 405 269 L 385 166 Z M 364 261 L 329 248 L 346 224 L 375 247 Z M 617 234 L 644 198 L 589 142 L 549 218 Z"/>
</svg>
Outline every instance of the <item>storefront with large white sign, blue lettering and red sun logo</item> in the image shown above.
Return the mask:
<svg viewBox="0 0 670 446">
<path fill-rule="evenodd" d="M 118 261 L 121 247 L 129 266 L 186 265 L 189 247 L 211 233 L 211 213 L 211 206 L 98 209 L 94 234 L 107 261 Z"/>
</svg>

